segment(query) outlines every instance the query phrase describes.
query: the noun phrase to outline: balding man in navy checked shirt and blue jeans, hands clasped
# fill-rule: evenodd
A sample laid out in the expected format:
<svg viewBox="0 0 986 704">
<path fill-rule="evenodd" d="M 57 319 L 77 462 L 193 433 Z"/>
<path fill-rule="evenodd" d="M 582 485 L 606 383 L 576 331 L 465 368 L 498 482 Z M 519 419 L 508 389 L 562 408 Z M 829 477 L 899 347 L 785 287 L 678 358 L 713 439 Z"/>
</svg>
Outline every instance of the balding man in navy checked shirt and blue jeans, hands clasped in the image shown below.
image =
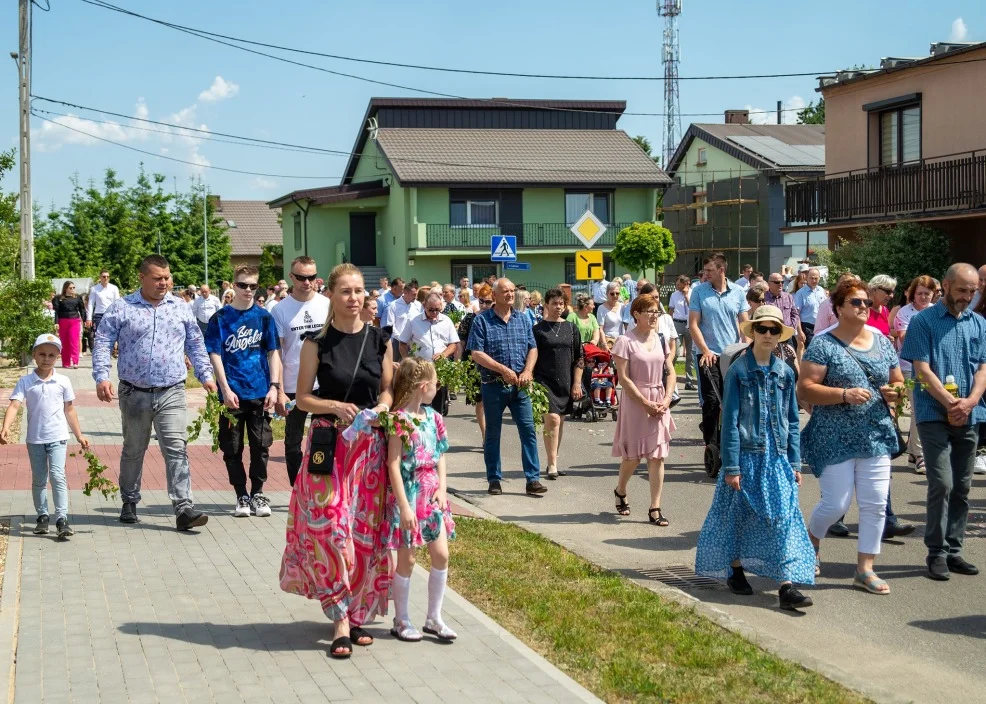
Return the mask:
<svg viewBox="0 0 986 704">
<path fill-rule="evenodd" d="M 473 319 L 466 344 L 472 352 L 472 361 L 479 365 L 483 380 L 483 413 L 486 417 L 483 459 L 486 460 L 489 493 L 494 496 L 503 493 L 500 486 L 503 478 L 500 430 L 503 427 L 503 412 L 508 408 L 520 435 L 521 461 L 524 476 L 527 477 L 526 491 L 531 496 L 547 491 L 539 481 L 541 464 L 531 397 L 523 390 L 534 380 L 538 348 L 531 319 L 514 311 L 516 294 L 517 290 L 510 279 L 498 280 L 493 286 L 493 307 L 478 313 Z"/>
</svg>

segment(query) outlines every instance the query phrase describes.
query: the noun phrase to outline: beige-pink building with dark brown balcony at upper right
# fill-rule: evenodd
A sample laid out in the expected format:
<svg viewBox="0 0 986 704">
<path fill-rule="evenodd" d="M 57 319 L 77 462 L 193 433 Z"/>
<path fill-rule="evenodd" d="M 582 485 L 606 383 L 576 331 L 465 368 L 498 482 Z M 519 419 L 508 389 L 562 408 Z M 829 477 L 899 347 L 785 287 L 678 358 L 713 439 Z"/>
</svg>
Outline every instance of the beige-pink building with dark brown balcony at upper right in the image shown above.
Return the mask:
<svg viewBox="0 0 986 704">
<path fill-rule="evenodd" d="M 825 176 L 788 186 L 786 233 L 921 222 L 986 261 L 986 43 L 936 43 L 877 71 L 819 78 Z"/>
</svg>

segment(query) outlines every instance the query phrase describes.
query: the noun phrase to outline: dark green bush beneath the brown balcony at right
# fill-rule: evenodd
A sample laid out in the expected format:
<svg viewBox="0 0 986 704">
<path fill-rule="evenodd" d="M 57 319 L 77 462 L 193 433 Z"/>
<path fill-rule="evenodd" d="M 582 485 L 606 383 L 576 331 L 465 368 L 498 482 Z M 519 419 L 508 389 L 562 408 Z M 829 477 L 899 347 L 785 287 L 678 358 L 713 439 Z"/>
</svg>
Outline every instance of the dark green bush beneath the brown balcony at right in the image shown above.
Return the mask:
<svg viewBox="0 0 986 704">
<path fill-rule="evenodd" d="M 918 223 L 861 227 L 853 237 L 840 240 L 835 251 L 820 252 L 819 258 L 829 266 L 830 283 L 851 271 L 864 281 L 889 274 L 899 288 L 922 274 L 940 279 L 952 264 L 948 235 Z"/>
</svg>

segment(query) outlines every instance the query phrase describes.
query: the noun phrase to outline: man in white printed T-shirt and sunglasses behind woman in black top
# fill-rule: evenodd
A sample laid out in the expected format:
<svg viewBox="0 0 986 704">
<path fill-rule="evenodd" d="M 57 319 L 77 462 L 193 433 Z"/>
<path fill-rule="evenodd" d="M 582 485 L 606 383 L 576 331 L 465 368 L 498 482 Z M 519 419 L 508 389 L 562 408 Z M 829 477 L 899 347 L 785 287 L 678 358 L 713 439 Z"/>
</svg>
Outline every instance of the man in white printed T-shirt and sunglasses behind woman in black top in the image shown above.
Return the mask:
<svg viewBox="0 0 986 704">
<path fill-rule="evenodd" d="M 277 415 L 284 421 L 284 462 L 288 467 L 291 485 L 301 470 L 301 443 L 305 434 L 308 413 L 288 403 L 294 400 L 298 386 L 298 367 L 301 364 L 303 337 L 318 332 L 329 317 L 329 299 L 315 291 L 318 271 L 311 257 L 297 257 L 291 262 L 291 295 L 277 304 L 271 316 L 277 326 L 281 343 L 281 364 L 284 368 L 284 385 L 277 394 Z"/>
</svg>

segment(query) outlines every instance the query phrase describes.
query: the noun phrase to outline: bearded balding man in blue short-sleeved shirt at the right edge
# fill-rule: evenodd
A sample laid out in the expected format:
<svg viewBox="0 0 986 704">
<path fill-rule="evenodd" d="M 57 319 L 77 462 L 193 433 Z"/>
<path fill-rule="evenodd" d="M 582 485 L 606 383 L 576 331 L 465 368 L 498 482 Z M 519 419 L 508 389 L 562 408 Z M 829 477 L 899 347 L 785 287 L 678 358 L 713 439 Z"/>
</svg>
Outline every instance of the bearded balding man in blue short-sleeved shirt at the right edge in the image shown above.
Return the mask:
<svg viewBox="0 0 986 704">
<path fill-rule="evenodd" d="M 979 573 L 962 558 L 978 424 L 986 420 L 979 403 L 986 391 L 986 320 L 969 309 L 978 285 L 973 266 L 950 266 L 944 295 L 911 318 L 900 351 L 921 382 L 914 390 L 914 419 L 928 471 L 924 544 L 928 574 L 939 581 L 950 572 Z M 950 376 L 958 386 L 954 396 L 944 386 Z"/>
</svg>

